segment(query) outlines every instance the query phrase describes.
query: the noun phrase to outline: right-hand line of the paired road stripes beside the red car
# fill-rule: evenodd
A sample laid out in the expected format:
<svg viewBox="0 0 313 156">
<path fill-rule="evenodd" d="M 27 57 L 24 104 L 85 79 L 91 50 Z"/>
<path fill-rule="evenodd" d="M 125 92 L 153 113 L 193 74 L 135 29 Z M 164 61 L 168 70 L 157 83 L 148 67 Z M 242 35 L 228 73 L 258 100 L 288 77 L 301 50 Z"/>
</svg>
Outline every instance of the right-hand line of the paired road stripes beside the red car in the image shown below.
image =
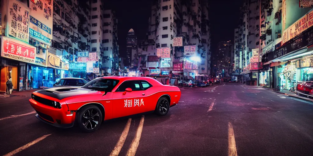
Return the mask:
<svg viewBox="0 0 313 156">
<path fill-rule="evenodd" d="M 131 145 L 129 146 L 129 149 L 127 151 L 127 156 L 135 156 L 137 147 L 139 145 L 139 140 L 141 137 L 141 132 L 142 132 L 142 127 L 143 127 L 143 122 L 145 121 L 145 116 L 141 116 L 140 123 L 137 129 L 137 133 L 133 141 L 131 142 Z"/>
</svg>

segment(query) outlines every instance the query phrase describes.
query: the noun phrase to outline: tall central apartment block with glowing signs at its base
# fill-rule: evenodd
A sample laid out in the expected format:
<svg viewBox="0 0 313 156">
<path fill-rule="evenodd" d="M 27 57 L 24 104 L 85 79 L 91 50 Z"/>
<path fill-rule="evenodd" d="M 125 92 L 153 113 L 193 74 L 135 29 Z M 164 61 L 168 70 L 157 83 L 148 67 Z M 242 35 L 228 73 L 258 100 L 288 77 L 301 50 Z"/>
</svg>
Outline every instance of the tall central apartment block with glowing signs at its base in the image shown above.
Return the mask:
<svg viewBox="0 0 313 156">
<path fill-rule="evenodd" d="M 174 79 L 184 75 L 184 80 L 204 80 L 210 74 L 210 29 L 206 1 L 154 1 L 148 22 L 146 40 L 138 48 L 139 68 L 143 74 Z M 177 37 L 181 38 L 180 46 L 173 45 Z M 192 56 L 189 53 L 184 55 L 184 49 L 190 49 L 190 46 L 194 50 Z"/>
</svg>

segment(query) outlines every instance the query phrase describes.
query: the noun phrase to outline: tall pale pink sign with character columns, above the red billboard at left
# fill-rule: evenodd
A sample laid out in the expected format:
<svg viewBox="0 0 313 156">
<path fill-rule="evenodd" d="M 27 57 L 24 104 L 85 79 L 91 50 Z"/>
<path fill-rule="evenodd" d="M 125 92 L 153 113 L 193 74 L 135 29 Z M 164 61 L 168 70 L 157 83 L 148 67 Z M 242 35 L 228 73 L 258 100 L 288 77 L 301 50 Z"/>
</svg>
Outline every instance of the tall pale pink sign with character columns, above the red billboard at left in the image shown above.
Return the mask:
<svg viewBox="0 0 313 156">
<path fill-rule="evenodd" d="M 8 34 L 18 40 L 29 42 L 30 9 L 17 0 L 8 1 Z"/>
</svg>

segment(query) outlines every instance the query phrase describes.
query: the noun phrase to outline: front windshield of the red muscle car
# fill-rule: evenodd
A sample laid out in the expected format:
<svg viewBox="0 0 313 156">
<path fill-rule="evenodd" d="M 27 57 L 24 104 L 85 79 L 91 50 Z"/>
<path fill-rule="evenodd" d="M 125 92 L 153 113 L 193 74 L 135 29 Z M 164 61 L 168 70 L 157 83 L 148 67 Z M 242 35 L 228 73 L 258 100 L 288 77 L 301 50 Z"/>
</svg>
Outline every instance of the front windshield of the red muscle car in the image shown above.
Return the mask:
<svg viewBox="0 0 313 156">
<path fill-rule="evenodd" d="M 115 80 L 115 79 L 97 78 L 95 80 L 88 82 L 82 88 L 90 89 L 90 90 L 97 90 L 97 91 L 111 92 L 118 82 L 119 80 Z"/>
</svg>

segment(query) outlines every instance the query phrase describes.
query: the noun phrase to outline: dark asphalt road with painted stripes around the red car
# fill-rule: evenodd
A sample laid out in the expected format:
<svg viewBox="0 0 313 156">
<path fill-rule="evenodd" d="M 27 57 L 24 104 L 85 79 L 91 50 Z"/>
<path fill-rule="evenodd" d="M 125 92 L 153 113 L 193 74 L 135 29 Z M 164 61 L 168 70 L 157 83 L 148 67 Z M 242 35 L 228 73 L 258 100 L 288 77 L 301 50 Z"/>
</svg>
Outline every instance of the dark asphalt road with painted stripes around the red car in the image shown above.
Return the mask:
<svg viewBox="0 0 313 156">
<path fill-rule="evenodd" d="M 236 83 L 181 91 L 179 104 L 166 116 L 107 121 L 94 133 L 39 121 L 30 94 L 1 98 L 0 155 L 313 154 L 311 102 Z"/>
</svg>

